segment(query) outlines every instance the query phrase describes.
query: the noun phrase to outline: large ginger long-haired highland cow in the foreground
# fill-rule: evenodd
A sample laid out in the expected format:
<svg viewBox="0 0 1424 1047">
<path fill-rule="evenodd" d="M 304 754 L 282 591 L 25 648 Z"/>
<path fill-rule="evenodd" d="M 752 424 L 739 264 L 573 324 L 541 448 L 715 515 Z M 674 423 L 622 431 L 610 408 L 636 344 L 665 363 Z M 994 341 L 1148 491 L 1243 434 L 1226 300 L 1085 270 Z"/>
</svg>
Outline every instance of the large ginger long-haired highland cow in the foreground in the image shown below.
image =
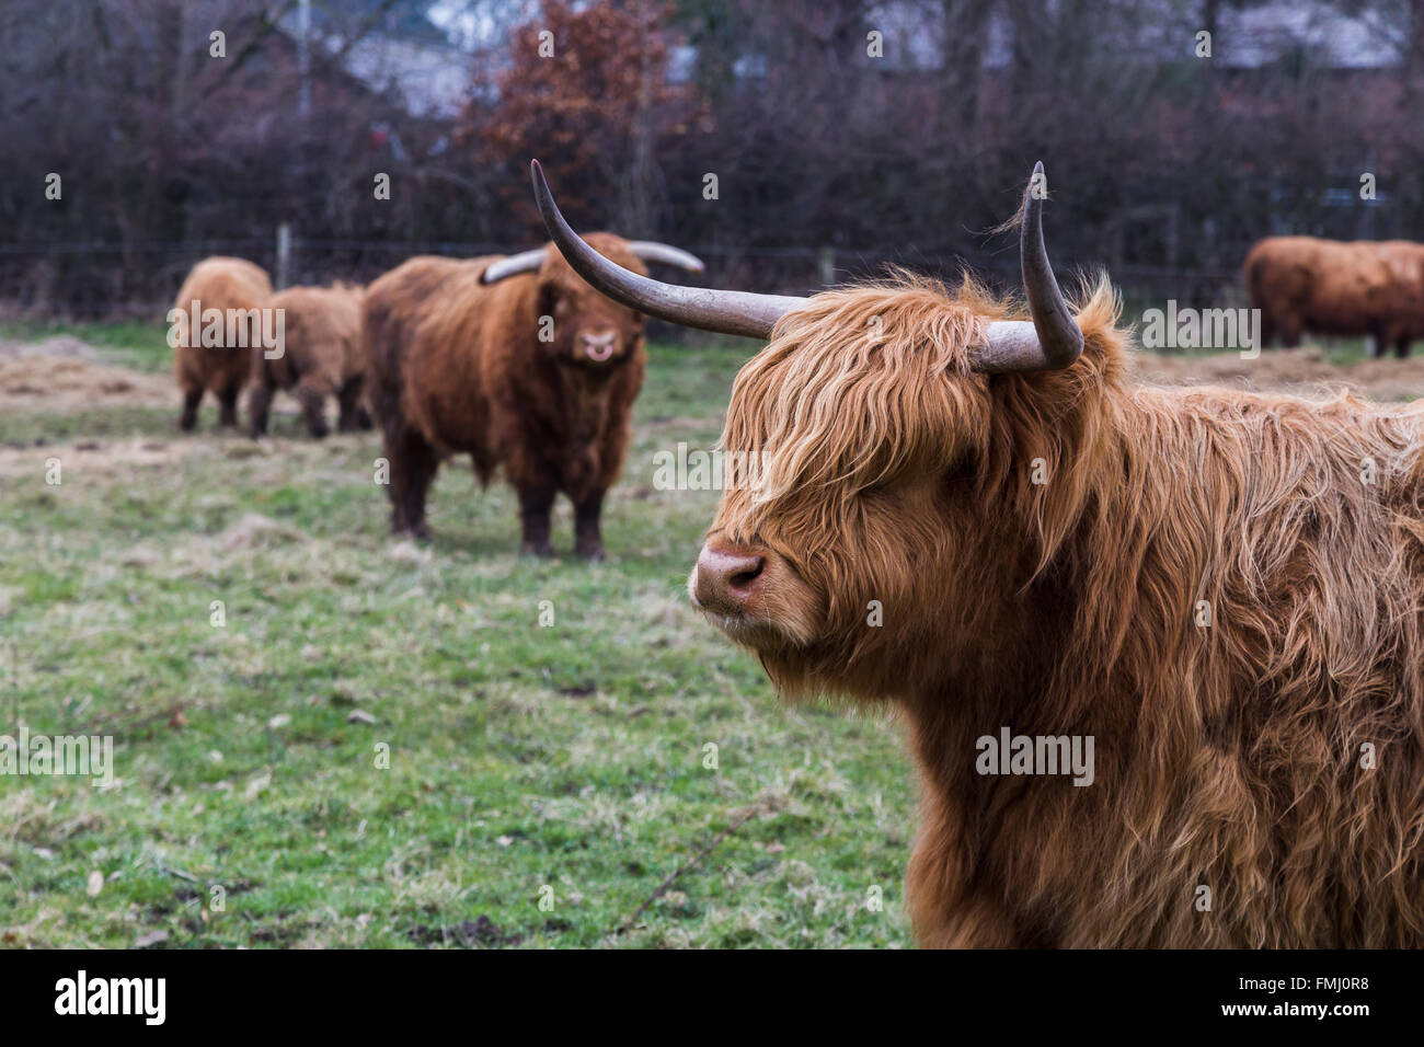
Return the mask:
<svg viewBox="0 0 1424 1047">
<path fill-rule="evenodd" d="M 923 944 L 1424 946 L 1424 409 L 1132 386 L 1032 198 L 1020 319 L 662 288 L 535 194 L 617 301 L 770 339 L 691 597 L 783 694 L 903 712 Z"/>
</svg>

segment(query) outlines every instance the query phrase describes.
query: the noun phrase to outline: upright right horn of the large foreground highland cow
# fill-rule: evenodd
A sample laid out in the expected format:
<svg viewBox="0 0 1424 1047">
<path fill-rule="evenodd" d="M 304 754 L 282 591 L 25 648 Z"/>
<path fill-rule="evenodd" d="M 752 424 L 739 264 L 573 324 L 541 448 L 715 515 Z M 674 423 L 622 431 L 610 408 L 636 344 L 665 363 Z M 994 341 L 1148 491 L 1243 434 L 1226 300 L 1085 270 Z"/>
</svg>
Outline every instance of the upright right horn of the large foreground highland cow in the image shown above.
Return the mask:
<svg viewBox="0 0 1424 1047">
<path fill-rule="evenodd" d="M 1034 164 L 1034 178 L 1024 194 L 1024 214 L 1018 228 L 1018 264 L 1028 298 L 1028 321 L 995 321 L 988 325 L 984 349 L 975 370 L 1001 375 L 1015 370 L 1059 370 L 1082 353 L 1082 330 L 1068 312 L 1058 279 L 1044 248 L 1044 201 L 1034 195 L 1034 185 L 1044 164 Z"/>
</svg>

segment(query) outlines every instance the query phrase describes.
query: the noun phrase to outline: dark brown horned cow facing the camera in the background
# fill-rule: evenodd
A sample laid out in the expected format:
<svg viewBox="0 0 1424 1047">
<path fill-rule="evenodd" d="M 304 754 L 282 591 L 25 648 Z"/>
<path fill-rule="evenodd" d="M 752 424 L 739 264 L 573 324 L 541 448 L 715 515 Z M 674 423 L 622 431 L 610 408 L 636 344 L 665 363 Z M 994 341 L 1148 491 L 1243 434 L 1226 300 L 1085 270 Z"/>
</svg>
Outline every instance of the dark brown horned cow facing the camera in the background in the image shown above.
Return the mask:
<svg viewBox="0 0 1424 1047">
<path fill-rule="evenodd" d="M 693 272 L 662 244 L 592 238 L 619 265 Z M 602 558 L 604 493 L 622 469 L 645 366 L 642 316 L 587 286 L 553 248 L 510 258 L 412 258 L 370 285 L 370 405 L 390 462 L 393 534 L 426 537 L 426 491 L 464 452 L 481 483 L 518 491 L 523 548 L 551 556 L 550 513 L 574 503 L 574 550 Z"/>
</svg>

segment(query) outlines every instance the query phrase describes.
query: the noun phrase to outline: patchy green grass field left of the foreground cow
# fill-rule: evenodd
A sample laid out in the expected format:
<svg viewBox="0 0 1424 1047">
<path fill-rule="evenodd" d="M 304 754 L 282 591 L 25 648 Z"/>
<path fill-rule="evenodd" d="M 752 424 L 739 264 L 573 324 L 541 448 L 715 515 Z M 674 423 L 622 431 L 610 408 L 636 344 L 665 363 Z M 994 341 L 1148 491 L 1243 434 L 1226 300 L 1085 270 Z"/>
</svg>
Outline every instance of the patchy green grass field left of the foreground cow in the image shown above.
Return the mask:
<svg viewBox="0 0 1424 1047">
<path fill-rule="evenodd" d="M 111 735 L 117 776 L 0 776 L 0 943 L 906 944 L 899 726 L 779 705 L 682 591 L 716 493 L 651 486 L 746 352 L 652 350 L 597 566 L 520 558 L 467 463 L 392 543 L 373 434 L 0 415 L 0 734 Z"/>
</svg>

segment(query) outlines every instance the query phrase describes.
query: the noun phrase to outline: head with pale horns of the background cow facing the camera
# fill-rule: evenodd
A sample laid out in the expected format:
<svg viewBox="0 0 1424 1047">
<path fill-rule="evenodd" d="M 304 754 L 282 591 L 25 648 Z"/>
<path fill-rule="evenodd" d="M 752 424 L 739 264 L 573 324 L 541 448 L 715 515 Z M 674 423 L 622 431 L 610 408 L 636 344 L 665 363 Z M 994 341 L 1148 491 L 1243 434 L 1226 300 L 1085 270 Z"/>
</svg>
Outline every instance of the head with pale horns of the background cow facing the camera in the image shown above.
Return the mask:
<svg viewBox="0 0 1424 1047">
<path fill-rule="evenodd" d="M 644 262 L 665 262 L 701 272 L 702 262 L 678 248 L 625 241 L 609 232 L 590 234 L 588 244 L 611 262 L 646 276 Z M 553 244 L 488 265 L 481 283 L 534 274 L 534 316 L 538 346 L 558 363 L 590 372 L 611 372 L 642 342 L 644 315 L 590 288 Z M 547 318 L 547 319 L 545 319 Z M 544 336 L 547 332 L 547 336 Z"/>
</svg>

